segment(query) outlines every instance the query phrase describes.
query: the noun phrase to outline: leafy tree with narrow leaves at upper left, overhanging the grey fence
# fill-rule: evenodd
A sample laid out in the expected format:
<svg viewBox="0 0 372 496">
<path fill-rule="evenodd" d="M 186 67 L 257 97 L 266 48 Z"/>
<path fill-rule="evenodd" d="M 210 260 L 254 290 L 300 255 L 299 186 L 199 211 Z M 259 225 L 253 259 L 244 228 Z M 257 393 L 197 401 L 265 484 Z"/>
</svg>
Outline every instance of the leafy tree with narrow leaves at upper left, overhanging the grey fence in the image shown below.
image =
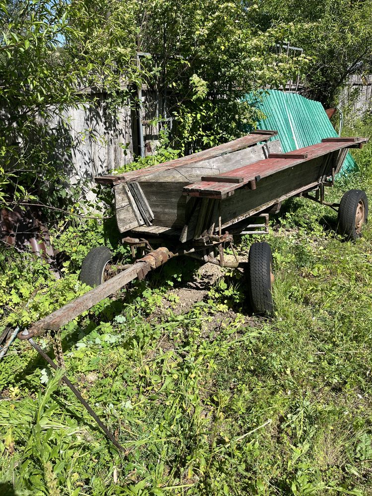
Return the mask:
<svg viewBox="0 0 372 496">
<path fill-rule="evenodd" d="M 91 103 L 87 87 L 118 87 L 130 67 L 134 78 L 135 45 L 118 34 L 115 9 L 108 22 L 83 2 L 14 0 L 0 8 L 0 202 L 42 191 L 47 198 L 62 180 L 61 157 L 54 153 L 61 136 L 49 121 Z"/>
</svg>

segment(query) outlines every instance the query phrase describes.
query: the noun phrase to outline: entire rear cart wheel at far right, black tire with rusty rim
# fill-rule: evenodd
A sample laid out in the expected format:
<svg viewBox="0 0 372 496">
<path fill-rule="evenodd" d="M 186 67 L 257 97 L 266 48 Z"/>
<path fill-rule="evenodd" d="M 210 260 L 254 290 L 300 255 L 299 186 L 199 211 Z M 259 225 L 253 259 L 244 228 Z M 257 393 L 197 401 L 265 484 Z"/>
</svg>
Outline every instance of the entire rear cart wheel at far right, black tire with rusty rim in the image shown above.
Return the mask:
<svg viewBox="0 0 372 496">
<path fill-rule="evenodd" d="M 348 240 L 362 236 L 362 228 L 367 222 L 368 199 L 362 189 L 350 189 L 341 198 L 338 209 L 338 232 Z"/>
</svg>

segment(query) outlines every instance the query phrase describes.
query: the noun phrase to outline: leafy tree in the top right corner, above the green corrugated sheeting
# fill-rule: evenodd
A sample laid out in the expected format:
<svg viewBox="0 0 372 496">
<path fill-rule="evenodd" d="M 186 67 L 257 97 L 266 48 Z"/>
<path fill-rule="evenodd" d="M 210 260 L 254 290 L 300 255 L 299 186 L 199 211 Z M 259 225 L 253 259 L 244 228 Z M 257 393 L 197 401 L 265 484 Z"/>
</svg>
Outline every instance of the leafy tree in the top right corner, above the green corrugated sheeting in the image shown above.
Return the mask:
<svg viewBox="0 0 372 496">
<path fill-rule="evenodd" d="M 337 102 L 350 74 L 363 78 L 372 65 L 372 3 L 370 1 L 260 0 L 257 22 L 262 26 L 297 26 L 291 43 L 311 58 L 308 96 L 325 106 Z"/>
</svg>

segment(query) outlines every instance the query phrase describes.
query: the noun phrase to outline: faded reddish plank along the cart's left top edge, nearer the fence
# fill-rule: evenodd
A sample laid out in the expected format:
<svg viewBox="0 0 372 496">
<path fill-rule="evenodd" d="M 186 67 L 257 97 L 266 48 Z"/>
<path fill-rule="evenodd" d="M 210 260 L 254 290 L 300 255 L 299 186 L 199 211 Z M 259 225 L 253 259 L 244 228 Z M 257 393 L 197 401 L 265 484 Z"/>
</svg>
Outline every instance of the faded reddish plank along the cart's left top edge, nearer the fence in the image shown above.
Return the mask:
<svg viewBox="0 0 372 496">
<path fill-rule="evenodd" d="M 213 148 L 208 148 L 207 150 L 203 150 L 192 155 L 186 155 L 186 157 L 170 160 L 169 162 L 163 162 L 162 164 L 146 167 L 145 169 L 140 169 L 138 171 L 130 171 L 124 174 L 111 176 L 98 176 L 94 178 L 94 180 L 96 183 L 100 184 L 115 185 L 119 183 L 126 183 L 127 181 L 143 179 L 145 176 L 150 176 L 155 172 L 168 171 L 169 169 L 194 164 L 196 162 L 200 162 L 201 160 L 219 157 L 221 155 L 226 155 L 227 153 L 248 148 L 248 146 L 255 145 L 259 141 L 267 141 L 276 134 L 277 131 L 254 131 L 254 133 L 247 134 L 247 136 L 243 136 L 242 138 L 234 139 L 228 143 L 223 143 L 222 145 L 214 146 Z"/>
</svg>

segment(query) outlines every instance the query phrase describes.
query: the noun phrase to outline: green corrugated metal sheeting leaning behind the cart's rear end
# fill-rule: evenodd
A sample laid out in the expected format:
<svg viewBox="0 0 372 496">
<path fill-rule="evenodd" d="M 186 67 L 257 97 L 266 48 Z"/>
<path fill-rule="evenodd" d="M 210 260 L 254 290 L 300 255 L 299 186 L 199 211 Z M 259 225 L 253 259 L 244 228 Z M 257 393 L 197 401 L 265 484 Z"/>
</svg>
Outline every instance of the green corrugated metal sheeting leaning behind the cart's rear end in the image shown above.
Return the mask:
<svg viewBox="0 0 372 496">
<path fill-rule="evenodd" d="M 338 136 L 320 102 L 278 90 L 267 90 L 258 97 L 249 93 L 245 100 L 266 116 L 258 122 L 258 129 L 278 131 L 270 140 L 280 139 L 284 153 L 315 145 L 322 138 Z M 356 163 L 348 153 L 342 171 L 355 167 Z"/>
</svg>

